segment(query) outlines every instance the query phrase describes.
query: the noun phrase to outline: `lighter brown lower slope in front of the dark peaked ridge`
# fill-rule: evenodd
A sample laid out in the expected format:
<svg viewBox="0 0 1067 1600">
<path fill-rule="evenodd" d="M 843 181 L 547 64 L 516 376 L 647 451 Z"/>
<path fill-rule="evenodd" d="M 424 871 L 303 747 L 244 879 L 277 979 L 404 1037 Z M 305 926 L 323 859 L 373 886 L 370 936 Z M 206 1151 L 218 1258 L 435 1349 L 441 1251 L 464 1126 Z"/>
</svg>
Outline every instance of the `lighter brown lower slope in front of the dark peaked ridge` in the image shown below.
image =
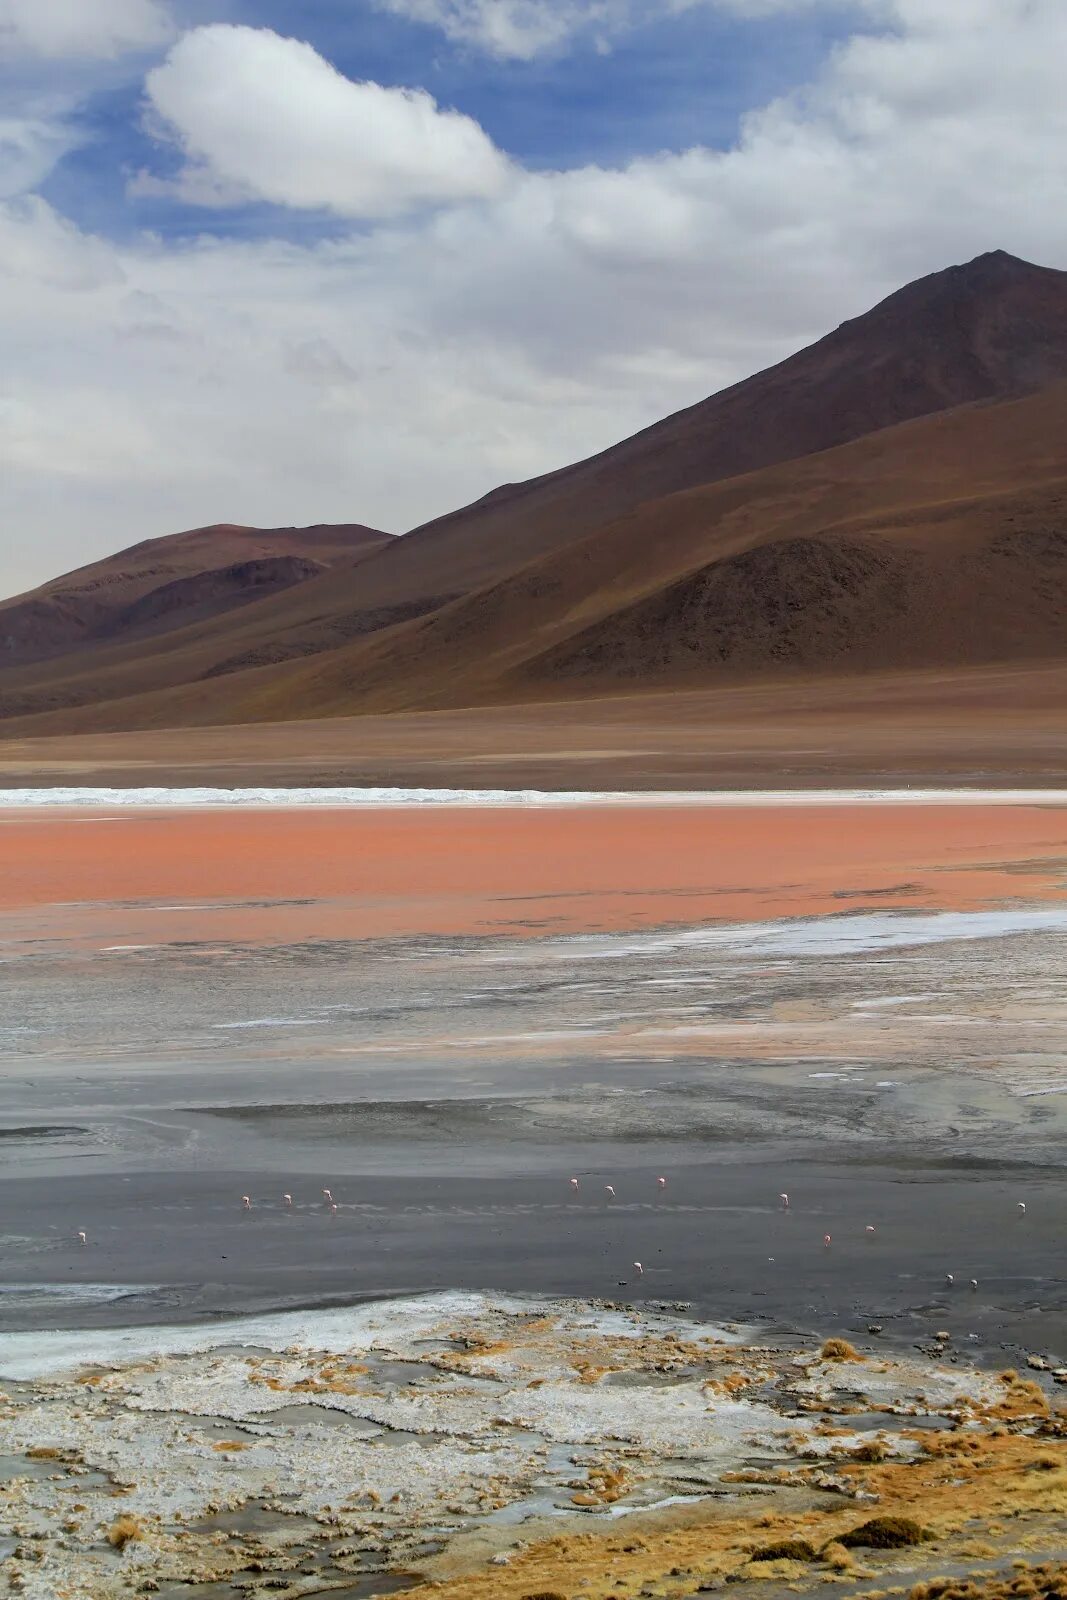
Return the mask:
<svg viewBox="0 0 1067 1600">
<path fill-rule="evenodd" d="M 438 611 L 306 662 L 10 731 L 1067 661 L 1067 386 L 638 507 Z"/>
</svg>

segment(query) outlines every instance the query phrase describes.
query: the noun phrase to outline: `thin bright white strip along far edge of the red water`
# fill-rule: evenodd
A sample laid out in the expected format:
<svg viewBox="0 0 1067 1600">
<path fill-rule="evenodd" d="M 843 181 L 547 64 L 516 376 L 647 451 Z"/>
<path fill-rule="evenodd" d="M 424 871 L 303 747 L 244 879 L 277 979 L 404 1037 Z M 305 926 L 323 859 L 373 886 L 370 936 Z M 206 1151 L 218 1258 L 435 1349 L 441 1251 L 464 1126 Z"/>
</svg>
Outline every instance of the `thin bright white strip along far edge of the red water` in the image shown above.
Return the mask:
<svg viewBox="0 0 1067 1600">
<path fill-rule="evenodd" d="M 363 789 L 363 787 L 56 787 L 0 789 L 0 811 L 26 808 L 186 806 L 862 806 L 862 805 L 1067 805 L 1067 789 Z"/>
</svg>

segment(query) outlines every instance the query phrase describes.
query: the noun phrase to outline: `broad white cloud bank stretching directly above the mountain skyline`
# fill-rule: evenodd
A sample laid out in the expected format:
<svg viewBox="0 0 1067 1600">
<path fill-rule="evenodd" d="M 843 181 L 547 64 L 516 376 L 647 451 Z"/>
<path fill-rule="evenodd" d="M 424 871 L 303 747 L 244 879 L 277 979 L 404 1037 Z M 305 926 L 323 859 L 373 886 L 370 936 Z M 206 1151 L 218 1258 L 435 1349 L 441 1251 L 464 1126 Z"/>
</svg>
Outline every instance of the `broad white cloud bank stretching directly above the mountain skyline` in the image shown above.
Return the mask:
<svg viewBox="0 0 1067 1600">
<path fill-rule="evenodd" d="M 410 526 L 921 272 L 1067 267 L 1067 6 L 891 3 L 721 154 L 512 173 L 314 246 L 0 210 L 3 587 L 200 522 Z"/>
</svg>

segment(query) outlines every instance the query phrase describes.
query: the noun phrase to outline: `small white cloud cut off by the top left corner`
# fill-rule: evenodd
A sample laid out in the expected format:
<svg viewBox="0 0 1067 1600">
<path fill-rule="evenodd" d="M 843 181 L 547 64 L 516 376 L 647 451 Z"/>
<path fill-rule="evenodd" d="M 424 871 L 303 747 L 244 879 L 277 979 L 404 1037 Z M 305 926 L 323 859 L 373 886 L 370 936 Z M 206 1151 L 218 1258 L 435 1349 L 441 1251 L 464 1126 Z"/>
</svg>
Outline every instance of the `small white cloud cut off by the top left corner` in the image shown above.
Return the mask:
<svg viewBox="0 0 1067 1600">
<path fill-rule="evenodd" d="M 0 59 L 114 58 L 173 32 L 162 0 L 0 0 Z"/>
</svg>

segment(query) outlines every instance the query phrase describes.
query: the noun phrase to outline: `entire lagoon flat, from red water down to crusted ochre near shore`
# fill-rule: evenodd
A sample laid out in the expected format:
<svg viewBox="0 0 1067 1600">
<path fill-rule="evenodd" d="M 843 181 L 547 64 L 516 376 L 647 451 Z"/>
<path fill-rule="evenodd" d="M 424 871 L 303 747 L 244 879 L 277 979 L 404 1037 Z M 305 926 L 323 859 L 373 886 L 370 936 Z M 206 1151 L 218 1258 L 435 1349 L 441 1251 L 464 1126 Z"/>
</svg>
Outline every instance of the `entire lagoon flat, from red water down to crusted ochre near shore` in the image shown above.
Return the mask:
<svg viewBox="0 0 1067 1600">
<path fill-rule="evenodd" d="M 1065 818 L 5 813 L 0 1582 L 1059 1594 Z"/>
</svg>

